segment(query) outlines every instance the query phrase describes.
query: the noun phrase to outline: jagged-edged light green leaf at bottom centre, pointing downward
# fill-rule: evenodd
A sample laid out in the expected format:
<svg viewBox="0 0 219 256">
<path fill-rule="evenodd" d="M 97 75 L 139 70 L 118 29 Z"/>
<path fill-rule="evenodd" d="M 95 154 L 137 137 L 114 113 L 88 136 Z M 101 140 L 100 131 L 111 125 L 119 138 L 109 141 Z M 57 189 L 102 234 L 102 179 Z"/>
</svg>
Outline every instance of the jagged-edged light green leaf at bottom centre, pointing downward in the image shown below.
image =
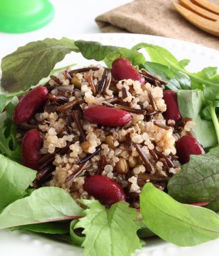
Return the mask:
<svg viewBox="0 0 219 256">
<path fill-rule="evenodd" d="M 134 219 L 139 215 L 128 203 L 115 203 L 109 210 L 97 200 L 81 200 L 89 207 L 76 228 L 86 235 L 83 256 L 128 256 L 141 248 Z"/>
</svg>

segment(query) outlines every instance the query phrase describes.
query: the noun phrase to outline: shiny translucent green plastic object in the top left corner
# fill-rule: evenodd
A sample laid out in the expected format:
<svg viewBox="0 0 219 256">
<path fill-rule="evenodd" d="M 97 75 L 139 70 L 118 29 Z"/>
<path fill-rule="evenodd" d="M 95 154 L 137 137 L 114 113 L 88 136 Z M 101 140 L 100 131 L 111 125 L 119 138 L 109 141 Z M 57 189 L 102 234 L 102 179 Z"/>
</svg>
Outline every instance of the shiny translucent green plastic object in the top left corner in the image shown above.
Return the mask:
<svg viewBox="0 0 219 256">
<path fill-rule="evenodd" d="M 0 31 L 35 31 L 51 22 L 54 14 L 48 0 L 0 0 Z"/>
</svg>

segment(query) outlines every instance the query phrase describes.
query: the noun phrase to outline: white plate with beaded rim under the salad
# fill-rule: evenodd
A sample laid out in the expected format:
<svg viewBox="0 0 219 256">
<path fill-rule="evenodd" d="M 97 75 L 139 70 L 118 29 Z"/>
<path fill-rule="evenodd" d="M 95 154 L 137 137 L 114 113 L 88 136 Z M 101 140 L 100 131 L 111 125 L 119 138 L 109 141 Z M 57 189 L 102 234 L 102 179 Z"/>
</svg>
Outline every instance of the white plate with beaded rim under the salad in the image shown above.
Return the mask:
<svg viewBox="0 0 219 256">
<path fill-rule="evenodd" d="M 219 51 L 191 44 L 179 40 L 173 40 L 165 37 L 156 37 L 151 35 L 134 34 L 90 34 L 78 35 L 74 39 L 91 40 L 102 42 L 103 44 L 112 44 L 116 46 L 131 47 L 139 42 L 149 42 L 157 44 L 170 50 L 179 60 L 183 58 L 191 59 L 189 69 L 198 71 L 204 67 L 218 67 Z M 2 49 L 1 49 L 2 51 Z M 73 62 L 78 66 L 85 66 L 94 61 L 87 61 L 79 54 L 72 53 L 67 56 L 58 66 L 68 65 Z M 138 250 L 135 256 L 206 256 L 218 255 L 219 239 L 209 241 L 200 246 L 179 247 L 173 244 L 161 241 L 161 239 L 147 239 L 147 246 L 143 250 Z M 0 231 L 0 255 L 10 256 L 81 256 L 82 249 L 59 241 L 54 241 L 40 234 L 8 230 Z M 103 255 L 104 256 L 104 255 Z M 119 255 L 118 255 L 119 256 Z"/>
</svg>

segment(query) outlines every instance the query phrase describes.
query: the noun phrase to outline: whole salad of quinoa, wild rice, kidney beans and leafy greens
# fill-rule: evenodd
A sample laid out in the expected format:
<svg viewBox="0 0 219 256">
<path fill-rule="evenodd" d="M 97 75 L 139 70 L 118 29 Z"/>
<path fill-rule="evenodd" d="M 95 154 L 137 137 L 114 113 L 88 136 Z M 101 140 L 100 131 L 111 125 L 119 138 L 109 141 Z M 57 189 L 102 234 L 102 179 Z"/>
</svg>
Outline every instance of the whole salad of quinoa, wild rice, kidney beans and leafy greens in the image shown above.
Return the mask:
<svg viewBox="0 0 219 256">
<path fill-rule="evenodd" d="M 71 51 L 104 64 L 53 69 Z M 0 228 L 89 256 L 218 238 L 219 74 L 188 64 L 152 44 L 65 37 L 3 58 Z"/>
</svg>

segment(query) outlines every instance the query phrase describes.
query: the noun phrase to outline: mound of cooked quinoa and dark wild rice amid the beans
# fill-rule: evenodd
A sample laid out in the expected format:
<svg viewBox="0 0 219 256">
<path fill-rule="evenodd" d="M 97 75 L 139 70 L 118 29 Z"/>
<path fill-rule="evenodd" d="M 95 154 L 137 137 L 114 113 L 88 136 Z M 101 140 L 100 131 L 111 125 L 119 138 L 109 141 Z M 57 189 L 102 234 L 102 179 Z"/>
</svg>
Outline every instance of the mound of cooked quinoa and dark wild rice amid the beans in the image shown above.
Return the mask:
<svg viewBox="0 0 219 256">
<path fill-rule="evenodd" d="M 101 174 L 123 187 L 133 207 L 139 207 L 146 182 L 166 189 L 168 179 L 180 171 L 175 142 L 191 134 L 194 123 L 166 121 L 165 82 L 148 72 L 147 76 L 151 79 L 144 85 L 118 81 L 101 66 L 51 76 L 44 85 L 49 99 L 30 121 L 44 139 L 35 185 L 62 187 L 75 199 L 91 198 L 83 189 L 85 178 Z M 90 123 L 82 118 L 89 105 L 126 110 L 132 120 L 119 127 Z"/>
</svg>

